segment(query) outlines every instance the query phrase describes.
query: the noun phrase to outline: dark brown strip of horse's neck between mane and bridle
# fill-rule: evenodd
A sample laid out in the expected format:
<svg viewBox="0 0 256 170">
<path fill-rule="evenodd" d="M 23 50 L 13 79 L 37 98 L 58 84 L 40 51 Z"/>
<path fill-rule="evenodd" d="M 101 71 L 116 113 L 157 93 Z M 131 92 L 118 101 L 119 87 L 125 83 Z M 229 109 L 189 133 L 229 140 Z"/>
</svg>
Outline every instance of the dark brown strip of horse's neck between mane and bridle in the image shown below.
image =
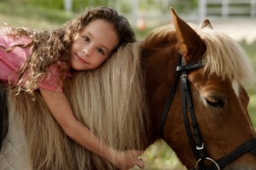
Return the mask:
<svg viewBox="0 0 256 170">
<path fill-rule="evenodd" d="M 167 51 L 160 49 L 143 59 L 153 142 L 160 138 L 160 118 L 176 72 L 177 57 Z"/>
</svg>

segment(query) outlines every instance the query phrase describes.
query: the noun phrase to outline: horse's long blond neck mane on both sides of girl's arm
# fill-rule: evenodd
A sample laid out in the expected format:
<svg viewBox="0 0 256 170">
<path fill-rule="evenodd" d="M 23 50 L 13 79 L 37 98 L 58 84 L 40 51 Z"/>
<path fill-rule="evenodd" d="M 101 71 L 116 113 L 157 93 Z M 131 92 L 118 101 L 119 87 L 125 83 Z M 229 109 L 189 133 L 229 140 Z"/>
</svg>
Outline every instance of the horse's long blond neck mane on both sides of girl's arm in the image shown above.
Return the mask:
<svg viewBox="0 0 256 170">
<path fill-rule="evenodd" d="M 73 75 L 64 89 L 79 121 L 118 150 L 142 149 L 147 135 L 148 107 L 139 54 L 139 43 L 127 44 L 96 71 Z M 33 169 L 114 169 L 68 139 L 41 95 L 35 97 L 32 101 L 26 94 L 9 95 L 9 104 L 25 122 Z"/>
</svg>

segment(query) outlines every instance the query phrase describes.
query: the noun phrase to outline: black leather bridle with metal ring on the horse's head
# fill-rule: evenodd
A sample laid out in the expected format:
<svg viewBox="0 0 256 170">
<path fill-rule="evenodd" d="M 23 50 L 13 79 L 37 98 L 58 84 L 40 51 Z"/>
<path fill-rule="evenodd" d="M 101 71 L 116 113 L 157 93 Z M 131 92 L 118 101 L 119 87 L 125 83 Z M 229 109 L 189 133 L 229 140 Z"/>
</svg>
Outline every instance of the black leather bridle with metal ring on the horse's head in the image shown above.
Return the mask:
<svg viewBox="0 0 256 170">
<path fill-rule="evenodd" d="M 206 146 L 201 140 L 200 129 L 199 129 L 198 123 L 196 122 L 195 111 L 194 111 L 193 103 L 191 100 L 188 74 L 187 74 L 187 72 L 190 70 L 201 68 L 203 66 L 202 61 L 200 60 L 195 63 L 186 65 L 185 62 L 183 61 L 182 55 L 178 54 L 177 59 L 178 59 L 177 69 L 176 69 L 177 72 L 176 72 L 175 80 L 173 82 L 169 97 L 166 101 L 164 113 L 160 122 L 161 136 L 164 137 L 164 126 L 166 122 L 166 117 L 169 113 L 170 107 L 172 105 L 172 100 L 177 91 L 177 85 L 178 85 L 179 79 L 181 79 L 183 120 L 184 120 L 186 133 L 189 139 L 189 144 L 194 153 L 195 160 L 196 160 L 194 169 L 195 170 L 219 170 L 225 167 L 230 162 L 235 161 L 238 157 L 244 155 L 248 151 L 252 152 L 253 155 L 256 155 L 256 138 L 253 138 L 253 139 L 249 139 L 244 144 L 241 144 L 240 146 L 238 146 L 236 150 L 231 151 L 228 155 L 218 159 L 218 161 L 214 161 L 212 158 L 207 156 L 207 153 L 205 150 Z M 187 108 L 189 111 L 189 115 L 188 115 Z M 191 130 L 189 126 L 189 116 L 191 119 L 191 127 L 192 127 Z M 207 167 L 204 161 L 212 161 L 212 164 Z"/>
</svg>

